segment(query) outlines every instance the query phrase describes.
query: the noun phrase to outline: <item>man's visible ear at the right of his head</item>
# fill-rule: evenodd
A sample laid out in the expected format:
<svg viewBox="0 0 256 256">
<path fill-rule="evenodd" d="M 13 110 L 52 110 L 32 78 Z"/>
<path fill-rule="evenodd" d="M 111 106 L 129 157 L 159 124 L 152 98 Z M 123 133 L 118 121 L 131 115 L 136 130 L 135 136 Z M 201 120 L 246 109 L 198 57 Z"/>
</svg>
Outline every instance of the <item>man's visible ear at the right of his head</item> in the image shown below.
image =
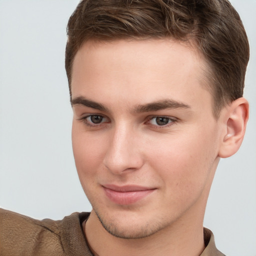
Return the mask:
<svg viewBox="0 0 256 256">
<path fill-rule="evenodd" d="M 233 155 L 240 147 L 249 116 L 248 101 L 241 97 L 222 109 L 223 132 L 218 156 L 225 158 Z"/>
</svg>

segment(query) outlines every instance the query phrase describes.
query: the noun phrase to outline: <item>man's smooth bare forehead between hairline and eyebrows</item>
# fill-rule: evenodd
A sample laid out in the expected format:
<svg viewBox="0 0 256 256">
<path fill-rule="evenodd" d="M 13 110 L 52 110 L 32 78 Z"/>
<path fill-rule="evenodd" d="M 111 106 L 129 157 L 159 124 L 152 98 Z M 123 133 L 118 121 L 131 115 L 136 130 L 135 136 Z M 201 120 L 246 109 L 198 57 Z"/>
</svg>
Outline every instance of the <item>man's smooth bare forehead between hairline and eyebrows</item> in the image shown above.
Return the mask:
<svg viewBox="0 0 256 256">
<path fill-rule="evenodd" d="M 87 41 L 73 61 L 72 97 L 129 105 L 171 97 L 190 105 L 208 93 L 203 65 L 195 48 L 174 39 Z"/>
</svg>

